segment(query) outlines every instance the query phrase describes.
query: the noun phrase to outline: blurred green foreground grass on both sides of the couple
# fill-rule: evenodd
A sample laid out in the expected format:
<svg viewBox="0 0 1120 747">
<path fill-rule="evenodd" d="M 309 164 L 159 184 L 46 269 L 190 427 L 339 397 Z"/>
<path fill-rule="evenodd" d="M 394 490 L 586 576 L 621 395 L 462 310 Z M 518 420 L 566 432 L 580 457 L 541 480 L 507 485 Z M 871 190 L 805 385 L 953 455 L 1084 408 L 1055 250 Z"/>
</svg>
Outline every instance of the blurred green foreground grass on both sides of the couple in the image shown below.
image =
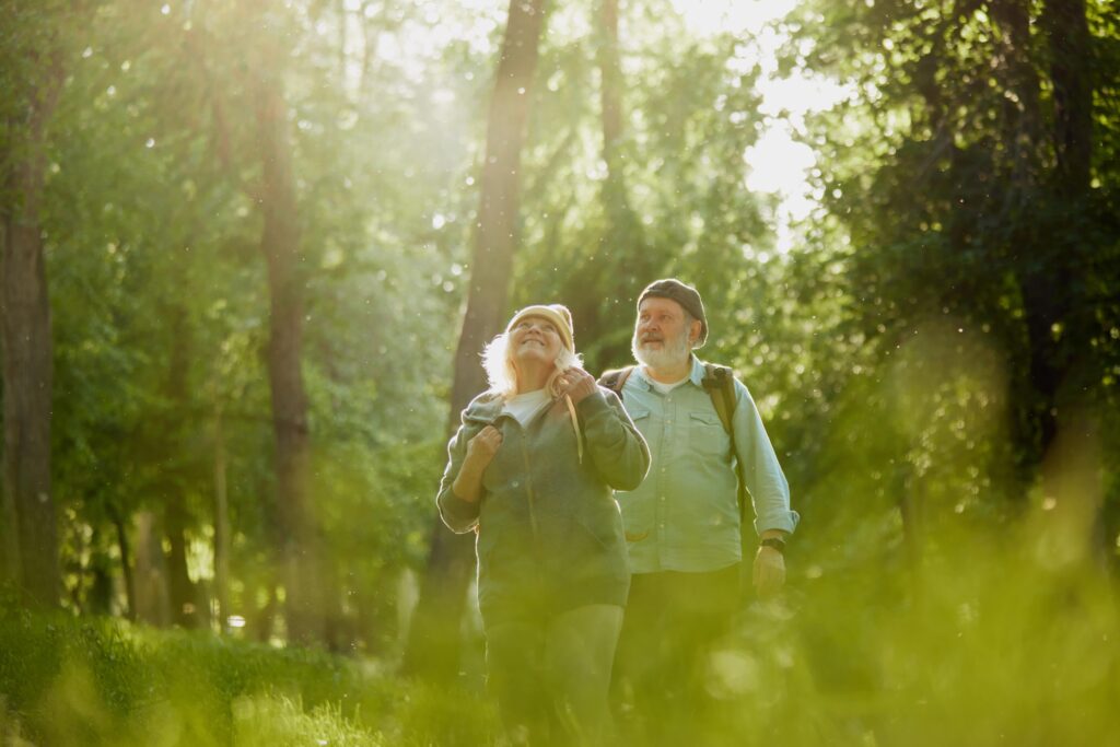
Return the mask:
<svg viewBox="0 0 1120 747">
<path fill-rule="evenodd" d="M 638 713 L 628 744 L 1120 744 L 1120 616 L 1045 524 L 942 532 L 797 573 L 713 652 L 707 704 Z M 796 552 L 796 551 L 794 551 Z M 0 734 L 36 745 L 487 745 L 480 693 L 361 660 L 113 619 L 0 613 Z M 672 738 L 669 735 L 673 735 Z M 20 741 L 26 740 L 26 741 Z"/>
</svg>

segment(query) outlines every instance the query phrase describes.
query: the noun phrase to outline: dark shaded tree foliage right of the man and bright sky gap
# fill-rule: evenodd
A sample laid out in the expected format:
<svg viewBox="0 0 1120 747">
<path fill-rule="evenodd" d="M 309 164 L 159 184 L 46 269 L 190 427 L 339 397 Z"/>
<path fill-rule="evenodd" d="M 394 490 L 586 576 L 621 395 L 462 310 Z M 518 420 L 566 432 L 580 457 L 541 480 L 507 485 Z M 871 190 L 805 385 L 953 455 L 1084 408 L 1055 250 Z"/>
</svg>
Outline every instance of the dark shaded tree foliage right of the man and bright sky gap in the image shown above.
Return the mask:
<svg viewBox="0 0 1120 747">
<path fill-rule="evenodd" d="M 1116 111 L 1114 68 L 1098 53 L 1113 43 L 1104 15 L 1089 3 L 1091 46 L 1066 60 L 1093 76 L 1098 123 Z M 1018 3 L 877 1 L 805 3 L 784 25 L 787 67 L 852 85 L 805 134 L 822 207 L 787 277 L 796 315 L 825 321 L 831 340 L 812 356 L 822 402 L 794 422 L 801 435 L 852 441 L 828 464 L 878 455 L 877 491 L 925 504 L 922 514 L 1006 521 L 1009 506 L 1037 498 L 1044 460 L 1080 413 L 1094 413 L 1096 433 L 1116 420 L 1111 134 L 1079 133 L 1091 139 L 1092 172 L 1071 192 L 1052 24 Z M 855 431 L 852 414 L 862 415 Z M 868 451 L 868 439 L 887 448 Z M 1094 454 L 1111 474 L 1116 452 Z M 830 470 L 803 474 L 811 494 L 837 487 Z M 1102 555 L 1114 555 L 1116 534 L 1109 520 Z"/>
</svg>

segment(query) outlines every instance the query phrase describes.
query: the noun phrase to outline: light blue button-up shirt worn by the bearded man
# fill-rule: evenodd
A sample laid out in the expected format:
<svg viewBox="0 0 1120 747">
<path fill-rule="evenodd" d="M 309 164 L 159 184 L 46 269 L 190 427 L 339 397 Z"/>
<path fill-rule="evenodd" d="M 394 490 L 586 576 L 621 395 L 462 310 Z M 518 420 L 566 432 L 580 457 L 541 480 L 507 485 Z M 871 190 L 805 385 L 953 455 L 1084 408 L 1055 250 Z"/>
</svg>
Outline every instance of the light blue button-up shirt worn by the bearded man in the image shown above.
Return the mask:
<svg viewBox="0 0 1120 747">
<path fill-rule="evenodd" d="M 790 485 L 750 392 L 735 380 L 736 454 L 703 389 L 703 363 L 692 357 L 685 383 L 659 392 L 642 366 L 623 386 L 623 405 L 650 445 L 652 463 L 642 485 L 615 497 L 623 510 L 631 571 L 707 572 L 743 558 L 735 463 L 755 513 L 755 531 L 793 532 Z"/>
</svg>

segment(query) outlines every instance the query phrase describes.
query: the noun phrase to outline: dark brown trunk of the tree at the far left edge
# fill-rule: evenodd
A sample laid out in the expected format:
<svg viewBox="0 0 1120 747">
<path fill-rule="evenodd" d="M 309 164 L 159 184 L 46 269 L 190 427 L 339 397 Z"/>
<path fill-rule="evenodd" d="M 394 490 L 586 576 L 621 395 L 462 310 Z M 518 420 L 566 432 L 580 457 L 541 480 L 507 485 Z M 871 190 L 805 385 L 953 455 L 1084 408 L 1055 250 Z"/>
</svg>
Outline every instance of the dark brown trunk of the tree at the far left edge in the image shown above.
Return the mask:
<svg viewBox="0 0 1120 747">
<path fill-rule="evenodd" d="M 50 398 L 54 377 L 50 307 L 43 255 L 39 207 L 43 197 L 46 125 L 63 83 L 60 56 L 52 58 L 44 82 L 28 97 L 26 119 L 9 121 L 18 141 L 0 152 L 8 165 L 3 186 L 3 262 L 0 317 L 3 324 L 6 529 L 15 567 L 8 569 L 35 605 L 58 605 L 62 589 L 58 527 L 50 495 Z M 8 200 L 6 200 L 8 202 Z M 11 532 L 11 530 L 15 530 Z"/>
</svg>

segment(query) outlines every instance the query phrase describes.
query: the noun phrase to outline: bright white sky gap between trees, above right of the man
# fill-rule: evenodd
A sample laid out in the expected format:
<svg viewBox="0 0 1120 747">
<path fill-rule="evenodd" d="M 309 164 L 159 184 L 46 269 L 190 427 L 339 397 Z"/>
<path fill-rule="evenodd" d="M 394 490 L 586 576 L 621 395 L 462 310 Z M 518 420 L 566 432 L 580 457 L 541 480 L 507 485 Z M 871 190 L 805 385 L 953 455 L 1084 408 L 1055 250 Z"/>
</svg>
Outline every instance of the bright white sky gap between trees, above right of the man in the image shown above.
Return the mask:
<svg viewBox="0 0 1120 747">
<path fill-rule="evenodd" d="M 672 0 L 693 32 L 730 31 L 752 43 L 749 46 L 763 73 L 758 93 L 763 97 L 760 111 L 766 119 L 758 143 L 744 153 L 749 170 L 746 185 L 780 196 L 775 230 L 777 249 L 783 253 L 793 244 L 791 224 L 809 215 L 815 204 L 806 176 L 816 159 L 812 149 L 796 142 L 794 136 L 804 131 L 805 114 L 828 109 L 847 95 L 844 87 L 809 78 L 797 71 L 790 77 L 777 77 L 775 55 L 786 39 L 771 24 L 793 10 L 799 1 Z"/>
</svg>

